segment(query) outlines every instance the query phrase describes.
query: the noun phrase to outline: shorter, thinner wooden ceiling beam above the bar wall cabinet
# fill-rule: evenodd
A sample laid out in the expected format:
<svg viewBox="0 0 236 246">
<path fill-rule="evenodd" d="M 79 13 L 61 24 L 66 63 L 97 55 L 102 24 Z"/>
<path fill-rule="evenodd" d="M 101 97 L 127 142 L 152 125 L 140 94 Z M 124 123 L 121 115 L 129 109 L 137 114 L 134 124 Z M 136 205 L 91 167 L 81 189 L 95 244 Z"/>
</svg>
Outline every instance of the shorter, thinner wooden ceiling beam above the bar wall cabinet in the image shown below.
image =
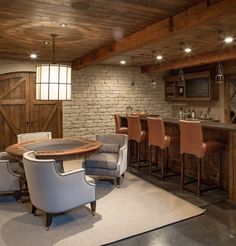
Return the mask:
<svg viewBox="0 0 236 246">
<path fill-rule="evenodd" d="M 236 59 L 236 48 L 227 49 L 220 53 L 208 52 L 196 56 L 182 58 L 181 60 L 156 64 L 155 66 L 145 66 L 141 68 L 142 73 L 163 72 L 172 69 L 186 68 L 197 65 L 205 65 L 218 61 L 228 61 Z"/>
</svg>

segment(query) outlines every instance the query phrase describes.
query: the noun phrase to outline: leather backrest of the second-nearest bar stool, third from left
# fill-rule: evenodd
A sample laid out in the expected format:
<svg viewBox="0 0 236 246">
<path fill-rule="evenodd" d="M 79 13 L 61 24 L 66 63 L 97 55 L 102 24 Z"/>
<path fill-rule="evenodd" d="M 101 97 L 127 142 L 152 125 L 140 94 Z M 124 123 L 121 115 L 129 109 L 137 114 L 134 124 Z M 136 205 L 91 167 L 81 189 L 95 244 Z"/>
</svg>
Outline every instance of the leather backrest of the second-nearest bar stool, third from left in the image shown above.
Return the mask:
<svg viewBox="0 0 236 246">
<path fill-rule="evenodd" d="M 165 144 L 165 127 L 162 118 L 147 118 L 148 144 L 163 147 Z"/>
</svg>

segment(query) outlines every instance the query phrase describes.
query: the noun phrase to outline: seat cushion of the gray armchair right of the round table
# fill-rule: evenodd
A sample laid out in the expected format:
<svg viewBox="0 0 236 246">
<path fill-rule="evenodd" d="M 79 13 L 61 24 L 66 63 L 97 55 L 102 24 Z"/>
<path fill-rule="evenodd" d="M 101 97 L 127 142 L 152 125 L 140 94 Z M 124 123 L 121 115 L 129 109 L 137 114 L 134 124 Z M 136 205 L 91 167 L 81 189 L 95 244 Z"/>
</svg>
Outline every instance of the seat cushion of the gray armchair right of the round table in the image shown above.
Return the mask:
<svg viewBox="0 0 236 246">
<path fill-rule="evenodd" d="M 97 153 L 86 160 L 86 168 L 110 169 L 117 168 L 118 154 L 115 153 Z"/>
</svg>

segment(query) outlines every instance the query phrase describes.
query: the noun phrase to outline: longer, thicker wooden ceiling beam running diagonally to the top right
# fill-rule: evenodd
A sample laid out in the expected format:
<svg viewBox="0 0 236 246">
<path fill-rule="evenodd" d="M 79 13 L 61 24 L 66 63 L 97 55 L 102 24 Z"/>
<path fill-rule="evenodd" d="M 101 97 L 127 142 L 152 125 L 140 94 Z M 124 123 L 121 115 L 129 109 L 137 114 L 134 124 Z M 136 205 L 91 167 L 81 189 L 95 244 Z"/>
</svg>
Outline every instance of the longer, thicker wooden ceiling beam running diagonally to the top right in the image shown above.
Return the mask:
<svg viewBox="0 0 236 246">
<path fill-rule="evenodd" d="M 209 6 L 205 0 L 179 14 L 168 17 L 130 36 L 95 50 L 72 63 L 73 69 L 80 69 L 101 62 L 116 55 L 132 51 L 144 45 L 166 38 L 175 33 L 185 31 L 207 21 L 211 21 L 229 11 L 235 11 L 235 0 L 222 0 Z"/>
</svg>

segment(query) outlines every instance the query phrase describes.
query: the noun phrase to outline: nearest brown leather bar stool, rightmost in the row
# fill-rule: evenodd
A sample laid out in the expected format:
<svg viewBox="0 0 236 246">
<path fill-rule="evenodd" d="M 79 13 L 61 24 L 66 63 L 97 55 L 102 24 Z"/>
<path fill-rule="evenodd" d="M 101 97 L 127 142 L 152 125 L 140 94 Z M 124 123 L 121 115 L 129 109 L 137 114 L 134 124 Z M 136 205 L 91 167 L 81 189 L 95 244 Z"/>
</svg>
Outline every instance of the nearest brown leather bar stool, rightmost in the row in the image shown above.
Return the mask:
<svg viewBox="0 0 236 246">
<path fill-rule="evenodd" d="M 185 183 L 185 154 L 190 154 L 197 157 L 197 194 L 201 192 L 221 188 L 222 187 L 222 151 L 224 145 L 218 141 L 208 140 L 203 142 L 202 127 L 200 121 L 185 121 L 180 120 L 180 153 L 181 153 L 181 186 L 182 189 L 187 189 L 187 185 L 195 182 L 190 181 Z M 210 154 L 219 154 L 220 159 L 220 185 L 208 189 L 201 189 L 201 169 L 202 160 L 205 156 Z"/>
</svg>

